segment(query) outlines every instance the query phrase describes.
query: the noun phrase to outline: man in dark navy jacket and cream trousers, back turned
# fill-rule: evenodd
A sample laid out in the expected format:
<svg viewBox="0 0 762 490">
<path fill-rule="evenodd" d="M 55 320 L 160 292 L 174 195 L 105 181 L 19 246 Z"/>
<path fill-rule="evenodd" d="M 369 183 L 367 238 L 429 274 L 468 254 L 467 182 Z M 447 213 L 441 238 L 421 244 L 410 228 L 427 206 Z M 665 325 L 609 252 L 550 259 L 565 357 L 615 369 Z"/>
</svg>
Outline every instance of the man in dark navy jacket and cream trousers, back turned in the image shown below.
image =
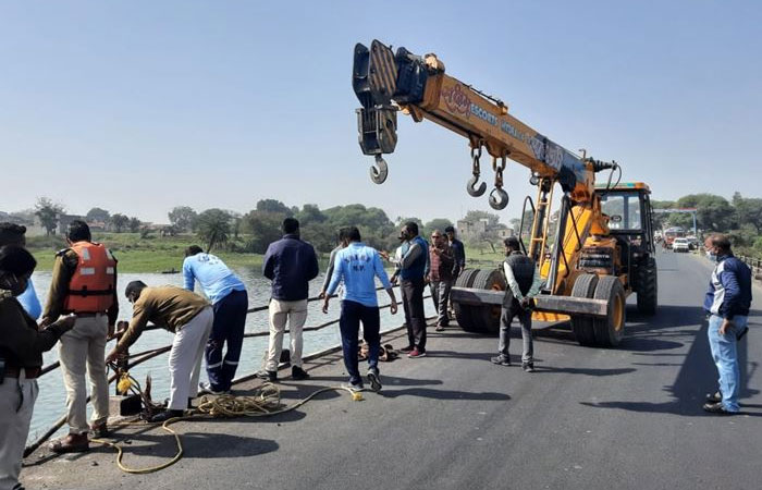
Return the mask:
<svg viewBox="0 0 762 490">
<path fill-rule="evenodd" d="M 296 380 L 309 375 L 302 368 L 302 328 L 307 320 L 309 281 L 318 277 L 318 256 L 312 245 L 299 237 L 299 222 L 283 220 L 283 238 L 268 246 L 262 274 L 272 281 L 270 298 L 270 343 L 265 369 L 257 376 L 278 380 L 278 362 L 283 350 L 286 322 L 291 336 L 291 376 Z"/>
</svg>

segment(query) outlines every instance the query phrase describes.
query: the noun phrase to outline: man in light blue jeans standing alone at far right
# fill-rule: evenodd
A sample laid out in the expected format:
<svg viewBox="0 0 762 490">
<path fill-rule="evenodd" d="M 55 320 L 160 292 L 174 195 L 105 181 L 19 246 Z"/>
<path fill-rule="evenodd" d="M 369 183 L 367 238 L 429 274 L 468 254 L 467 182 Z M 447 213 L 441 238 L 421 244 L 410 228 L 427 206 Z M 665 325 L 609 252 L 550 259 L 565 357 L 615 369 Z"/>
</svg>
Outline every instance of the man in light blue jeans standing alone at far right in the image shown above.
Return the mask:
<svg viewBox="0 0 762 490">
<path fill-rule="evenodd" d="M 716 266 L 712 271 L 704 310 L 709 317 L 709 346 L 720 372 L 720 391 L 708 397 L 703 409 L 720 415 L 740 411 L 738 388 L 738 341 L 747 332 L 751 306 L 751 270 L 730 250 L 725 235 L 713 234 L 704 241 L 704 249 Z"/>
</svg>

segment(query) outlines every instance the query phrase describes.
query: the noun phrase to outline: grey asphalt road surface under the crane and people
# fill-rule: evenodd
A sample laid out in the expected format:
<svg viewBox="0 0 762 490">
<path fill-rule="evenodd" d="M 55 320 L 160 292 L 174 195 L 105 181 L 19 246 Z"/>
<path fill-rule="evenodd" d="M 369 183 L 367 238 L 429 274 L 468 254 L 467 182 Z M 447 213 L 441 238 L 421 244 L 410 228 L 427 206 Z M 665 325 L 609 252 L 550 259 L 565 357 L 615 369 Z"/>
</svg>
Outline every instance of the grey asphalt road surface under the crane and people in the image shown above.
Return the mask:
<svg viewBox="0 0 762 490">
<path fill-rule="evenodd" d="M 134 490 L 762 488 L 754 376 L 762 290 L 740 344 L 743 415 L 706 415 L 701 404 L 717 376 L 700 304 L 711 267 L 693 255 L 657 260 L 659 314 L 642 318 L 629 307 L 619 348 L 586 348 L 567 332 L 544 330 L 538 370 L 525 373 L 489 363 L 496 339 L 432 333 L 429 356 L 383 364 L 384 390 L 364 402 L 329 393 L 267 419 L 180 422 L 183 460 L 151 475 L 121 473 L 102 448 L 35 454 L 29 462 L 42 464 L 25 468 L 22 480 L 29 489 Z M 519 350 L 514 338 L 512 351 Z M 285 379 L 285 402 L 344 381 L 336 355 L 307 367 L 310 382 Z M 158 430 L 130 436 L 125 448 L 131 466 L 174 454 L 172 438 Z"/>
</svg>

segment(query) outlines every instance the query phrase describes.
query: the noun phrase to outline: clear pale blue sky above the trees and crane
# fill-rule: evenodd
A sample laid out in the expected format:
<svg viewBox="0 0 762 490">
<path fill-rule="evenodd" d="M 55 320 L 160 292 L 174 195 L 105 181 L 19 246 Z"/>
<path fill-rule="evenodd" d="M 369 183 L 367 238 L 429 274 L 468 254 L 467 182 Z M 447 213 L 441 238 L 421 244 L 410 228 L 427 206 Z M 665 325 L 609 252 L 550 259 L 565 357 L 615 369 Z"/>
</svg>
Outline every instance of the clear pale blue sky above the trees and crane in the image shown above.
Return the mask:
<svg viewBox="0 0 762 490">
<path fill-rule="evenodd" d="M 38 196 L 165 222 L 176 205 L 362 203 L 394 219 L 490 210 L 467 142 L 401 114 L 368 179 L 355 42 L 423 54 L 656 199 L 761 196 L 762 2 L 0 3 L 1 210 Z M 528 170 L 508 164 L 518 216 Z"/>
</svg>

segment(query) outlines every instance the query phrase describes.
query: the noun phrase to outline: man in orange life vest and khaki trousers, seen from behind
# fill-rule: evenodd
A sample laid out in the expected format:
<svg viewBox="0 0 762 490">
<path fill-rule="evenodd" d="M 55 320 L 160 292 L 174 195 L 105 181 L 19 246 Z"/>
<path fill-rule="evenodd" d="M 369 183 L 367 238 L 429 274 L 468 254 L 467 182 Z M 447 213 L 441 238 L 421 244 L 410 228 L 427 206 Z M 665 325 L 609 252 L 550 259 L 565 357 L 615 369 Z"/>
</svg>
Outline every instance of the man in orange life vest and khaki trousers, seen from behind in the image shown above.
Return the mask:
<svg viewBox="0 0 762 490">
<path fill-rule="evenodd" d="M 87 451 L 89 431 L 108 433 L 109 384 L 106 377 L 106 341 L 119 315 L 116 260 L 103 245 L 94 243 L 84 221 L 69 224 L 70 247 L 56 255 L 53 277 L 40 324 L 62 314 L 76 314 L 74 328 L 61 336 L 59 360 L 66 387 L 69 434 L 50 444 L 56 453 Z M 91 426 L 87 424 L 87 381 L 93 400 Z"/>
</svg>

